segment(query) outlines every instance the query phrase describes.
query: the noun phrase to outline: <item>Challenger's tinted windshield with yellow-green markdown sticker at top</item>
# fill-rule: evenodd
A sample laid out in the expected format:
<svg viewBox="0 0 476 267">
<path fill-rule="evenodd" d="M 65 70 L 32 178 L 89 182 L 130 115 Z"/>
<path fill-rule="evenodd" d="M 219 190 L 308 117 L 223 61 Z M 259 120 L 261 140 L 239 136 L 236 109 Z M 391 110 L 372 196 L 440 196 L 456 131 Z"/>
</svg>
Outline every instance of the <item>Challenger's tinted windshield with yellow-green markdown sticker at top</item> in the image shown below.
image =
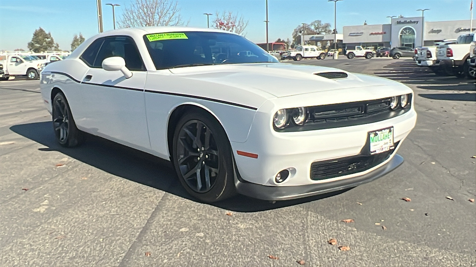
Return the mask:
<svg viewBox="0 0 476 267">
<path fill-rule="evenodd" d="M 221 32 L 171 32 L 144 35 L 156 69 L 279 61 L 246 38 Z"/>
</svg>

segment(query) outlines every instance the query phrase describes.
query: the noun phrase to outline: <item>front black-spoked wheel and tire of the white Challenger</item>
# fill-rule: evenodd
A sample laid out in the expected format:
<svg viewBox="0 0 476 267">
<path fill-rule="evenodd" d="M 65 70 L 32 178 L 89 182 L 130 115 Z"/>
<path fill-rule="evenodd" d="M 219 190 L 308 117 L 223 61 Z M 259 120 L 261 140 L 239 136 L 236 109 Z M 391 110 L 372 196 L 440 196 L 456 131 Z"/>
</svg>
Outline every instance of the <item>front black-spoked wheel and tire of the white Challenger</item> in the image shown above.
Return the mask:
<svg viewBox="0 0 476 267">
<path fill-rule="evenodd" d="M 211 203 L 236 194 L 230 143 L 211 114 L 193 109 L 180 118 L 172 159 L 178 180 L 198 200 Z"/>
</svg>

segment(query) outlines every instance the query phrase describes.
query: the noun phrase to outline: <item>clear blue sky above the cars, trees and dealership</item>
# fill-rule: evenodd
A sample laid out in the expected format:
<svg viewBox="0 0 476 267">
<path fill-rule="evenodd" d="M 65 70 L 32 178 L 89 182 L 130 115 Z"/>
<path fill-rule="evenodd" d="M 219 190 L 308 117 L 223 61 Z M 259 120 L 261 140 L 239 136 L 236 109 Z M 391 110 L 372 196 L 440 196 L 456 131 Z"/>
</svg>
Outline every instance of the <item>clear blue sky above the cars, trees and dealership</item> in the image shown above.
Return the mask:
<svg viewBox="0 0 476 267">
<path fill-rule="evenodd" d="M 203 13 L 230 10 L 249 20 L 246 37 L 266 42 L 265 0 L 177 0 L 188 26 L 207 27 Z M 337 30 L 343 26 L 389 23 L 387 16 L 421 16 L 427 21 L 469 19 L 471 0 L 343 0 L 337 2 Z M 112 10 L 106 3 L 129 5 L 130 0 L 102 0 L 104 30 L 112 29 Z M 334 23 L 334 3 L 327 0 L 268 0 L 269 41 L 291 38 L 300 23 L 320 19 Z M 116 8 L 116 18 L 122 7 Z M 213 17 L 210 16 L 210 21 Z M 96 0 L 0 0 L 0 50 L 27 49 L 33 31 L 51 32 L 63 50 L 69 50 L 74 34 L 85 38 L 98 33 Z"/>
</svg>

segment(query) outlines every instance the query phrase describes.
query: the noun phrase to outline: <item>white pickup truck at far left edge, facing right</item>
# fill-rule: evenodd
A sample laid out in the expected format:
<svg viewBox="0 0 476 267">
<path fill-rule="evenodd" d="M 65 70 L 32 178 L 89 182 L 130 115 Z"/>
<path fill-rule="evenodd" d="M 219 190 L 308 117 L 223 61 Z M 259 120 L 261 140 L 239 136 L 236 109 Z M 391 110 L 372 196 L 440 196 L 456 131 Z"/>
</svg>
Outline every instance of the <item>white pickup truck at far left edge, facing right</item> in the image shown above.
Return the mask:
<svg viewBox="0 0 476 267">
<path fill-rule="evenodd" d="M 44 67 L 43 63 L 25 55 L 0 55 L 0 61 L 4 71 L 0 80 L 8 80 L 10 76 L 27 76 L 29 80 L 36 80 Z"/>
</svg>

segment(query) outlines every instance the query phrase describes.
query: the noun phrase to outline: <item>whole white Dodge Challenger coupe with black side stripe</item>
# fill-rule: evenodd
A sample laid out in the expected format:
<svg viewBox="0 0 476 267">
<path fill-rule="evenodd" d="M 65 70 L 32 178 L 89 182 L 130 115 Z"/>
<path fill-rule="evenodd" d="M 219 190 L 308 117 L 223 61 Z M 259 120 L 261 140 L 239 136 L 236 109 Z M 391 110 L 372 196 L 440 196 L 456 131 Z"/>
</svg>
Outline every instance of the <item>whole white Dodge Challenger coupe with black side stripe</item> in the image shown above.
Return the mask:
<svg viewBox="0 0 476 267">
<path fill-rule="evenodd" d="M 216 29 L 146 27 L 89 38 L 41 72 L 57 141 L 84 133 L 170 160 L 204 202 L 288 200 L 397 168 L 415 126 L 401 83 L 279 63 Z"/>
</svg>

